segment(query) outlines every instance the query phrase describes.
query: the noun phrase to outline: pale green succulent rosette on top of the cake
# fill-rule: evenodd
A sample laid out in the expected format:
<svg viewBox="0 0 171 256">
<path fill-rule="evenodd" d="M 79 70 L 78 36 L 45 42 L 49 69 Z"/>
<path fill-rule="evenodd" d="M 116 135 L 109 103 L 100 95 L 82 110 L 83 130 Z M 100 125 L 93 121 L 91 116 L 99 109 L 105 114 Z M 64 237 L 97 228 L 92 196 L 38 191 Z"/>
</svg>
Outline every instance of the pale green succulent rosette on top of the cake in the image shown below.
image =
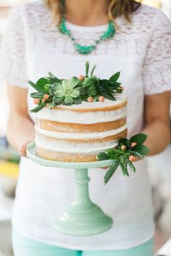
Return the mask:
<svg viewBox="0 0 171 256">
<path fill-rule="evenodd" d="M 80 80 L 74 76 L 70 80 L 63 79 L 62 83 L 54 83 L 51 89 L 54 90 L 52 102 L 54 104 L 80 104 Z"/>
</svg>

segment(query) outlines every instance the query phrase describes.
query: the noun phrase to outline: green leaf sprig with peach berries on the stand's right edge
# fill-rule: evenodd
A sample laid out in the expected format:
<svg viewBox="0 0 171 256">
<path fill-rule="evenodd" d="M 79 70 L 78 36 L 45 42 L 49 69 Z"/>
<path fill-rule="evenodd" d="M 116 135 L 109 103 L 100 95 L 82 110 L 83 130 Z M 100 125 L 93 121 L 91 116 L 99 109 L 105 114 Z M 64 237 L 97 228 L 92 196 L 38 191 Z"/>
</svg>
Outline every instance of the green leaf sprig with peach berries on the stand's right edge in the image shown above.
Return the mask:
<svg viewBox="0 0 171 256">
<path fill-rule="evenodd" d="M 107 149 L 105 152 L 97 154 L 97 160 L 115 160 L 109 170 L 104 176 L 104 183 L 106 184 L 113 176 L 118 166 L 120 166 L 124 176 L 129 176 L 128 167 L 135 173 L 135 166 L 133 162 L 135 157 L 143 159 L 149 154 L 149 149 L 143 145 L 146 141 L 146 134 L 139 133 L 130 139 L 122 138 L 118 141 L 118 145 L 113 149 Z"/>
</svg>

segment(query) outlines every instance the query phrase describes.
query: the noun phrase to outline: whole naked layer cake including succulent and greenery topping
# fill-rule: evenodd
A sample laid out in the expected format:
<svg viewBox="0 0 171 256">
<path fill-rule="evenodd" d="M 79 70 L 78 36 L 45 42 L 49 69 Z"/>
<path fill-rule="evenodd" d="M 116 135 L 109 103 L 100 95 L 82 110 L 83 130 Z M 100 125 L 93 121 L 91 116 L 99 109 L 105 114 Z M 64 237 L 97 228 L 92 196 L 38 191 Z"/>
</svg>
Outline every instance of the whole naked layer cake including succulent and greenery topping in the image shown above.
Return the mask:
<svg viewBox="0 0 171 256">
<path fill-rule="evenodd" d="M 38 156 L 62 162 L 93 162 L 99 152 L 117 146 L 118 139 L 127 136 L 127 98 L 118 77 L 119 73 L 100 80 L 86 73 L 70 80 L 51 75 L 36 84 L 30 82 L 37 91 L 39 88 L 31 95 L 38 104 L 32 110 L 37 112 Z"/>
</svg>

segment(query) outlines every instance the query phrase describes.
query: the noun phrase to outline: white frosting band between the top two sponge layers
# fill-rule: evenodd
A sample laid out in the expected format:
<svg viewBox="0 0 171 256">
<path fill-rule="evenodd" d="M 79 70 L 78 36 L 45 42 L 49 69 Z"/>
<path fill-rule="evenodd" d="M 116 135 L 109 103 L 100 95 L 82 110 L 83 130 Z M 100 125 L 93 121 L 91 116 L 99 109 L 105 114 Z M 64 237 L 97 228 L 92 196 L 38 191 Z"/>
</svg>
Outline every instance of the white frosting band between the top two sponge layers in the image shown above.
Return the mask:
<svg viewBox="0 0 171 256">
<path fill-rule="evenodd" d="M 89 103 L 90 104 L 90 103 Z M 77 106 L 77 105 L 76 105 Z M 57 121 L 62 123 L 105 123 L 126 117 L 126 107 L 122 107 L 113 111 L 99 111 L 99 112 L 74 112 L 70 110 L 49 110 L 43 108 L 36 114 L 38 119 L 45 119 Z"/>
</svg>

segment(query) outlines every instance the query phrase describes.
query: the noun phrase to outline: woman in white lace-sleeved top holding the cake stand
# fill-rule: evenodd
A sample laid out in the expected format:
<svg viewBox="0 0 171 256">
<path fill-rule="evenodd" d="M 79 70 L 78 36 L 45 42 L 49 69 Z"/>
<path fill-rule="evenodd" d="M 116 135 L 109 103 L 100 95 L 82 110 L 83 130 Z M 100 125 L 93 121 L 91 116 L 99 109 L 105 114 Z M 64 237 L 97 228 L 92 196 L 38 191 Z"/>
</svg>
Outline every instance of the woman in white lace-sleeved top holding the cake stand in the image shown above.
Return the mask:
<svg viewBox="0 0 171 256">
<path fill-rule="evenodd" d="M 99 41 L 109 20 L 116 33 Z M 63 22 L 71 36 L 62 34 L 57 22 Z M 46 0 L 17 7 L 9 17 L 1 57 L 9 83 L 9 142 L 25 155 L 34 139 L 28 80 L 36 81 L 49 71 L 61 78 L 81 75 L 89 60 L 97 65 L 99 77 L 121 71 L 128 94 L 128 136 L 146 133 L 151 155 L 162 152 L 170 141 L 170 36 L 170 21 L 161 11 L 133 0 Z M 73 43 L 80 49 L 93 45 L 93 51 L 81 54 Z M 127 179 L 117 171 L 107 186 L 104 170 L 90 171 L 93 202 L 114 218 L 114 226 L 104 234 L 75 237 L 51 226 L 72 201 L 72 170 L 45 168 L 22 157 L 12 214 L 14 256 L 152 256 L 154 223 L 146 160 L 135 166 L 135 175 Z"/>
</svg>

